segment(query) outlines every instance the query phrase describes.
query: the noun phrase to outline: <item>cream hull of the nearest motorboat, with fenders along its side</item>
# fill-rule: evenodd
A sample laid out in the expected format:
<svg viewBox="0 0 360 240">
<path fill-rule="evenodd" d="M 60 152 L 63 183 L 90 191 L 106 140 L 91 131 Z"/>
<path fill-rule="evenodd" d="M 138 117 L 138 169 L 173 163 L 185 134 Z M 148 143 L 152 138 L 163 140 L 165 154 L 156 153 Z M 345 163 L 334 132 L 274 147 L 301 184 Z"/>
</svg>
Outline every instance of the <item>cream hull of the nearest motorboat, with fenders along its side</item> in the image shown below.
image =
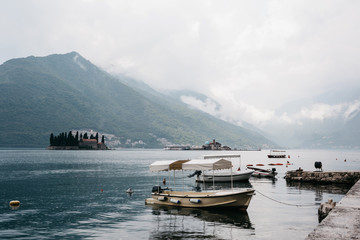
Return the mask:
<svg viewBox="0 0 360 240">
<path fill-rule="evenodd" d="M 145 204 L 189 208 L 234 207 L 246 210 L 254 191 L 254 189 L 214 192 L 164 191 L 163 193 L 152 193 L 152 197 L 146 199 Z"/>
</svg>

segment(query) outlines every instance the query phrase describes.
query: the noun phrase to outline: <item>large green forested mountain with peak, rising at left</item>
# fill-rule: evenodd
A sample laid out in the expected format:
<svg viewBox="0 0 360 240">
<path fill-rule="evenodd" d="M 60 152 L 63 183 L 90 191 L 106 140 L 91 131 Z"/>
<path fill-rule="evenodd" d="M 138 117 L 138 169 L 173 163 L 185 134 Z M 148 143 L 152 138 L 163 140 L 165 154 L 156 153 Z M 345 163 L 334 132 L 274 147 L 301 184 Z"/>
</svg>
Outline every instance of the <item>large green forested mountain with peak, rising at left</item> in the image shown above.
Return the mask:
<svg viewBox="0 0 360 240">
<path fill-rule="evenodd" d="M 232 148 L 277 147 L 133 82 L 76 52 L 9 60 L 0 66 L 0 146 L 44 147 L 50 133 L 93 129 L 116 136 L 120 147 L 202 145 L 214 138 Z"/>
</svg>

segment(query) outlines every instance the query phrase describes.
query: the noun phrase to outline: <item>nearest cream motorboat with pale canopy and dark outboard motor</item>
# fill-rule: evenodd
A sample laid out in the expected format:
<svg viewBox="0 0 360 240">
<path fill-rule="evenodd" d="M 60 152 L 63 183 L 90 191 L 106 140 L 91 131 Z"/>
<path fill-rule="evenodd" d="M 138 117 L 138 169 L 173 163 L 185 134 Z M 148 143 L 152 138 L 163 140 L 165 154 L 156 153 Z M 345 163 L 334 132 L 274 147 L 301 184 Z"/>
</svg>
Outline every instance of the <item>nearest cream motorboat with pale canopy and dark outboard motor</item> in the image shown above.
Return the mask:
<svg viewBox="0 0 360 240">
<path fill-rule="evenodd" d="M 231 169 L 231 161 L 225 159 L 198 159 L 157 161 L 150 165 L 150 170 L 174 171 L 175 170 L 220 170 Z M 236 207 L 246 210 L 254 195 L 254 189 L 213 190 L 213 191 L 171 191 L 154 186 L 151 198 L 145 200 L 147 205 L 178 206 L 190 208 L 208 207 Z"/>
</svg>

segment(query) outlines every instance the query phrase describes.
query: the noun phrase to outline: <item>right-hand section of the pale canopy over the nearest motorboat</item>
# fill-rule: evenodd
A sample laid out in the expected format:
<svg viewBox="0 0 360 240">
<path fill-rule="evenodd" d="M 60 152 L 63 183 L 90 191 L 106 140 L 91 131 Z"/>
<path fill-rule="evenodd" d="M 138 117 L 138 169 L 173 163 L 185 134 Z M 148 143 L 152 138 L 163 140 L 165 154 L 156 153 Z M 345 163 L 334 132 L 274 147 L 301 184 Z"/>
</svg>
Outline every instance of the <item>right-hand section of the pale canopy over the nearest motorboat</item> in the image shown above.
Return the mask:
<svg viewBox="0 0 360 240">
<path fill-rule="evenodd" d="M 194 159 L 182 164 L 183 170 L 220 170 L 232 168 L 232 162 L 225 159 Z"/>
</svg>

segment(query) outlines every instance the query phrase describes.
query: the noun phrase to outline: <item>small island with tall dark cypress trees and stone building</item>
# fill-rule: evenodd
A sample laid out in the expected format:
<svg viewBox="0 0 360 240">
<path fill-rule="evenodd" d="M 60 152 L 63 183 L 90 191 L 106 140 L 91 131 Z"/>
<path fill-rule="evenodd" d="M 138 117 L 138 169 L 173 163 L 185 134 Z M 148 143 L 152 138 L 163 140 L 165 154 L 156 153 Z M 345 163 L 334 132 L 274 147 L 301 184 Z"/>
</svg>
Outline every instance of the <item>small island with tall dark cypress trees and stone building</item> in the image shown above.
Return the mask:
<svg viewBox="0 0 360 240">
<path fill-rule="evenodd" d="M 105 137 L 102 135 L 101 142 L 99 142 L 99 133 L 88 136 L 87 132 L 80 133 L 77 131 L 75 136 L 72 131 L 69 133 L 63 132 L 57 136 L 50 134 L 50 146 L 48 150 L 108 150 L 105 145 Z"/>
</svg>

